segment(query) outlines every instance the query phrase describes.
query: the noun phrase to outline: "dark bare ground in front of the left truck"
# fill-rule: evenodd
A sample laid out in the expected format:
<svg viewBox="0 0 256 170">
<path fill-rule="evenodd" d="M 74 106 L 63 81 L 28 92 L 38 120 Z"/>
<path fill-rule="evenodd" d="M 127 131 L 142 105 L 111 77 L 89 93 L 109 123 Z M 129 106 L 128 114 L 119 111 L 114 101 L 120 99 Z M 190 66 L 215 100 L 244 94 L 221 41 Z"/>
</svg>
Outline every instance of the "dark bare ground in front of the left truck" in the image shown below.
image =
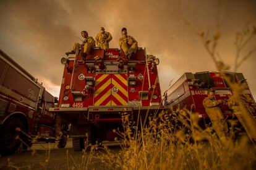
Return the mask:
<svg viewBox="0 0 256 170">
<path fill-rule="evenodd" d="M 113 151 L 120 150 L 117 143 L 108 143 L 107 145 Z M 103 150 L 96 151 L 96 154 L 102 153 L 104 153 Z M 1 156 L 0 169 L 79 169 L 82 156 L 82 151 L 72 149 L 72 139 L 69 138 L 66 148 L 63 149 L 59 149 L 54 143 L 34 144 L 32 150 Z M 104 169 L 104 167 L 95 161 L 95 166 L 90 169 Z"/>
</svg>

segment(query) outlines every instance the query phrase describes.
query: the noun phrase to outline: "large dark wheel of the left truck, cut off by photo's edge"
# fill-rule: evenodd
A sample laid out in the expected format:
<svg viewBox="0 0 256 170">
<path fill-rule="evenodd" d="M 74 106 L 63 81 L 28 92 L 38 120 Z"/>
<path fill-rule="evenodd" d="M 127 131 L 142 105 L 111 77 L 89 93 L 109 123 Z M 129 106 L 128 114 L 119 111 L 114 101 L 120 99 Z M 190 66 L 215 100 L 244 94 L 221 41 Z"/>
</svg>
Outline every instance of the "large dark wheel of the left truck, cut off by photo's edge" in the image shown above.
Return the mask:
<svg viewBox="0 0 256 170">
<path fill-rule="evenodd" d="M 22 121 L 17 118 L 11 118 L 4 123 L 0 136 L 0 153 L 2 155 L 15 153 L 19 149 L 21 143 L 19 138 L 23 140 L 23 137 L 22 132 L 17 131 L 17 128 L 24 130 Z"/>
</svg>

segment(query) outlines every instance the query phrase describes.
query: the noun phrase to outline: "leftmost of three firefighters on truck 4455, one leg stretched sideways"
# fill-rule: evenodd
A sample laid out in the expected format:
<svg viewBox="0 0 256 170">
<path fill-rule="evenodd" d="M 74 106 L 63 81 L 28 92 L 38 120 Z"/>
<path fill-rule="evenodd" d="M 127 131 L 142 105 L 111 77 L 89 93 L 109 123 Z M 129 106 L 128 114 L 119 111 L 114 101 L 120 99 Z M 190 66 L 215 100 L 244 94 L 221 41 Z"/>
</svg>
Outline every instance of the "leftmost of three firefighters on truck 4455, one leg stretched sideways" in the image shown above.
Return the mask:
<svg viewBox="0 0 256 170">
<path fill-rule="evenodd" d="M 86 31 L 82 31 L 81 35 L 85 40 L 83 40 L 82 44 L 75 43 L 72 50 L 70 52 L 67 52 L 66 55 L 69 54 L 75 54 L 75 50 L 77 48 L 83 48 L 83 52 L 81 53 L 81 56 L 85 59 L 89 53 L 89 51 L 95 47 L 95 40 L 92 38 L 92 36 L 88 36 L 88 33 Z"/>
</svg>

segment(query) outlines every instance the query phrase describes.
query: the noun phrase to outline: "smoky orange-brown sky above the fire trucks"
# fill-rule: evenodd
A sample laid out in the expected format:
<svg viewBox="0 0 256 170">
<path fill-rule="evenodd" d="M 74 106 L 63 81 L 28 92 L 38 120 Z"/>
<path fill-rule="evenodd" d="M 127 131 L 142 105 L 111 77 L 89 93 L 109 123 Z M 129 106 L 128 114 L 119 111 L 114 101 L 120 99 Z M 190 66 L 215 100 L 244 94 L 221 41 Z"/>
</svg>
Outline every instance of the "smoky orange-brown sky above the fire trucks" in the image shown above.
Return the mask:
<svg viewBox="0 0 256 170">
<path fill-rule="evenodd" d="M 197 35 L 215 32 L 220 23 L 217 51 L 233 70 L 236 32 L 250 22 L 256 25 L 255 1 L 5 1 L 0 0 L 0 48 L 58 95 L 60 59 L 80 40 L 81 30 L 96 36 L 100 27 L 113 35 L 110 48 L 119 48 L 121 28 L 160 58 L 161 91 L 184 72 L 216 70 Z M 190 24 L 188 24 L 187 22 Z M 255 48 L 256 38 L 243 53 Z M 256 54 L 239 67 L 256 95 Z"/>
</svg>

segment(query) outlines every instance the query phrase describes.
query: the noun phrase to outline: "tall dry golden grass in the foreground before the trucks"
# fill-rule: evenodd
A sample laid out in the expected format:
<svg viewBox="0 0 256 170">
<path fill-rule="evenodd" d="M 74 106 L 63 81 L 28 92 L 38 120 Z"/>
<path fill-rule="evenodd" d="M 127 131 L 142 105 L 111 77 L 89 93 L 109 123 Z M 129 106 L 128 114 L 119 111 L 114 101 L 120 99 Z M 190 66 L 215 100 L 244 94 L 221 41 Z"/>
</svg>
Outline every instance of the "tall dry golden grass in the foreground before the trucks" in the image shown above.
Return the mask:
<svg viewBox="0 0 256 170">
<path fill-rule="evenodd" d="M 202 130 L 197 125 L 197 115 L 189 111 L 191 119 L 161 113 L 150 117 L 150 123 L 137 137 L 129 122 L 124 124 L 121 151 L 111 151 L 107 147 L 93 147 L 83 151 L 83 158 L 77 167 L 68 169 L 91 169 L 95 160 L 105 169 L 254 169 L 256 150 L 248 140 L 221 142 L 210 129 Z M 173 122 L 187 125 L 177 125 Z M 191 142 L 193 139 L 193 142 Z M 102 154 L 98 150 L 103 151 Z M 69 157 L 69 156 L 67 156 Z M 94 160 L 94 161 L 93 161 Z"/>
</svg>

